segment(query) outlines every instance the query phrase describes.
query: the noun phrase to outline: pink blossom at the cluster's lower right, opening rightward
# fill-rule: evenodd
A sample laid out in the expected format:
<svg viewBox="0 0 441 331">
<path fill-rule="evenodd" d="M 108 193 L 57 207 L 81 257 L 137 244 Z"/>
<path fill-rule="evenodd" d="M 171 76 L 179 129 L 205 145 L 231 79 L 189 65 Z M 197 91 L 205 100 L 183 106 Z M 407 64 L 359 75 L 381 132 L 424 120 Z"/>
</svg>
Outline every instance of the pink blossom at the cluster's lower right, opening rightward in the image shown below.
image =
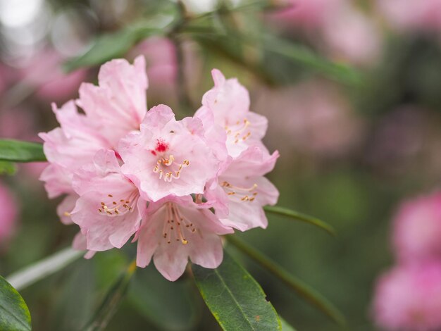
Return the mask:
<svg viewBox="0 0 441 331">
<path fill-rule="evenodd" d="M 224 225 L 245 231 L 253 227 L 266 228 L 263 206 L 274 205 L 278 190 L 263 175 L 273 170 L 279 154 L 273 155 L 258 146 L 249 147 L 232 161 L 218 176 L 218 185 L 206 191 L 213 202 L 216 216 Z"/>
</svg>

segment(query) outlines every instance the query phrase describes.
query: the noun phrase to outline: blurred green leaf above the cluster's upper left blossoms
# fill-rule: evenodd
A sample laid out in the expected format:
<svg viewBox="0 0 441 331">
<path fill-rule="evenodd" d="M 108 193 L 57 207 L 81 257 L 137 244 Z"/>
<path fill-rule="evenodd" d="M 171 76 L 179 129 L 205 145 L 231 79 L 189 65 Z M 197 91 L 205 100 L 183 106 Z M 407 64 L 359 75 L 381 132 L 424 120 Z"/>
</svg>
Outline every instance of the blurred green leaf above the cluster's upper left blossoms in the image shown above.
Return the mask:
<svg viewBox="0 0 441 331">
<path fill-rule="evenodd" d="M 67 61 L 63 68 L 69 72 L 77 68 L 101 65 L 113 58 L 123 57 L 132 46 L 135 46 L 142 39 L 165 34 L 174 20 L 175 16 L 171 13 L 169 15 L 157 15 L 152 20 L 134 23 L 117 32 L 101 35 L 97 37 L 89 51 L 82 56 Z"/>
</svg>

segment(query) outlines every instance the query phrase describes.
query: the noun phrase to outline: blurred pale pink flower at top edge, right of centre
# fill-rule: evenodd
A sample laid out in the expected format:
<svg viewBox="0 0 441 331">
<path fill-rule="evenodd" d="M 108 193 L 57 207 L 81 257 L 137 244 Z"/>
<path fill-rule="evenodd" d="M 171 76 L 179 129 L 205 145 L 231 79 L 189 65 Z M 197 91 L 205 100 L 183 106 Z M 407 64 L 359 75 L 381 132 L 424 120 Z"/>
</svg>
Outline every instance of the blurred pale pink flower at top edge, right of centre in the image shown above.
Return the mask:
<svg viewBox="0 0 441 331">
<path fill-rule="evenodd" d="M 339 61 L 365 65 L 375 62 L 381 36 L 371 17 L 348 0 L 290 0 L 290 5 L 268 15 L 275 26 L 294 35 L 301 32 Z M 296 31 L 298 30 L 298 31 Z"/>
</svg>

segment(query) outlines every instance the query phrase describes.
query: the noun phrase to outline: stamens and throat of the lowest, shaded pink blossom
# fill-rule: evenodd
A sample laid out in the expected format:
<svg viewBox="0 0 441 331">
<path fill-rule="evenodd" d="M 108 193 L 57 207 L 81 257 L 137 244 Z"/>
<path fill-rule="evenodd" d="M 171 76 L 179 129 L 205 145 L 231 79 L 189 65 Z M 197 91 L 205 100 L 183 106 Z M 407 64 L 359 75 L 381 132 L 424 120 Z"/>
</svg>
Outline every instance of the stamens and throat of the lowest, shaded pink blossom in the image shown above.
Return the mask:
<svg viewBox="0 0 441 331">
<path fill-rule="evenodd" d="M 171 244 L 173 240 L 188 244 L 187 234 L 196 232 L 196 227 L 185 216 L 173 202 L 166 203 L 166 218 L 164 219 L 163 237 L 167 244 Z"/>
</svg>

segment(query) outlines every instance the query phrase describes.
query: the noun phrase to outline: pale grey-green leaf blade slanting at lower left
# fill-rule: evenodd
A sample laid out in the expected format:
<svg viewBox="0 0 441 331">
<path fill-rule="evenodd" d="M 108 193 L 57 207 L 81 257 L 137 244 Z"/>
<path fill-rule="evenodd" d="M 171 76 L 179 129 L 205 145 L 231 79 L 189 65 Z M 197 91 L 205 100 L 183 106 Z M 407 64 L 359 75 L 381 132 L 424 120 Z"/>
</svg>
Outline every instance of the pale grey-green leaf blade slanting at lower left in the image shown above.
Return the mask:
<svg viewBox="0 0 441 331">
<path fill-rule="evenodd" d="M 18 270 L 7 277 L 8 282 L 10 282 L 16 289 L 24 289 L 43 278 L 56 273 L 58 270 L 68 266 L 73 261 L 80 258 L 84 251 L 76 251 L 70 247 L 58 251 L 56 254 L 48 256 L 41 261 L 37 261 L 30 266 Z"/>
</svg>

